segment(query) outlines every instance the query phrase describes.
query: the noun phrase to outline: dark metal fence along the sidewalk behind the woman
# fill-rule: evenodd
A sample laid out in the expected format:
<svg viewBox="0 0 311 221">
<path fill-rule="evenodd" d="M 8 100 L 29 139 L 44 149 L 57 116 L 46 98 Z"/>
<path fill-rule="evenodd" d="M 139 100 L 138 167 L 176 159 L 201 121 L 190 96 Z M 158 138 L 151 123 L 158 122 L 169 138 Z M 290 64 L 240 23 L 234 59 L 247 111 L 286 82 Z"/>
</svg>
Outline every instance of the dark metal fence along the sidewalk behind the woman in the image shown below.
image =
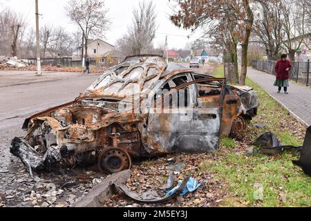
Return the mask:
<svg viewBox="0 0 311 221">
<path fill-rule="evenodd" d="M 276 75 L 274 67 L 276 61 L 253 61 L 252 67 L 256 70 L 262 70 L 270 75 Z M 310 79 L 310 60 L 303 62 L 293 62 L 292 70 L 290 70 L 290 79 L 296 81 L 296 83 L 311 85 Z"/>
</svg>

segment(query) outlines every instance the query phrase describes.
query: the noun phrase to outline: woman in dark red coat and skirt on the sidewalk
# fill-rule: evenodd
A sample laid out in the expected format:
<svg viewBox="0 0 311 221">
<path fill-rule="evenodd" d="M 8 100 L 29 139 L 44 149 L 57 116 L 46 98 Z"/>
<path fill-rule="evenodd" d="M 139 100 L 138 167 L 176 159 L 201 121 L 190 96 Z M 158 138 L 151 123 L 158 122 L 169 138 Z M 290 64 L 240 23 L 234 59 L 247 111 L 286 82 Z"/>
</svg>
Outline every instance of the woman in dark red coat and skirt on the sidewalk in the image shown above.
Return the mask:
<svg viewBox="0 0 311 221">
<path fill-rule="evenodd" d="M 288 95 L 288 87 L 290 86 L 288 79 L 290 79 L 292 64 L 287 58 L 288 55 L 281 55 L 281 59 L 276 62 L 276 81 L 274 82 L 274 86 L 279 87 L 278 93 L 281 93 L 282 88 L 284 88 L 285 94 Z"/>
</svg>

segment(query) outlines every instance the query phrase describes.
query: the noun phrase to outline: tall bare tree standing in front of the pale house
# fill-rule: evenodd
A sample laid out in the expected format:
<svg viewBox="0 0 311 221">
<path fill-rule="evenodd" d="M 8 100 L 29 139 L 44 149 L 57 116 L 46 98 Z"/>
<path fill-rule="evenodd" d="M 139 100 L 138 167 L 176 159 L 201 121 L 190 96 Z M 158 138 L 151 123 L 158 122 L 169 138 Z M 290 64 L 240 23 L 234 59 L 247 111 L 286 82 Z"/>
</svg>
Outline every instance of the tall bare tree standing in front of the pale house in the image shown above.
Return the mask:
<svg viewBox="0 0 311 221">
<path fill-rule="evenodd" d="M 70 0 L 65 9 L 68 17 L 83 33 L 87 58 L 89 36 L 104 37 L 104 33 L 109 29 L 108 10 L 104 0 Z"/>
</svg>

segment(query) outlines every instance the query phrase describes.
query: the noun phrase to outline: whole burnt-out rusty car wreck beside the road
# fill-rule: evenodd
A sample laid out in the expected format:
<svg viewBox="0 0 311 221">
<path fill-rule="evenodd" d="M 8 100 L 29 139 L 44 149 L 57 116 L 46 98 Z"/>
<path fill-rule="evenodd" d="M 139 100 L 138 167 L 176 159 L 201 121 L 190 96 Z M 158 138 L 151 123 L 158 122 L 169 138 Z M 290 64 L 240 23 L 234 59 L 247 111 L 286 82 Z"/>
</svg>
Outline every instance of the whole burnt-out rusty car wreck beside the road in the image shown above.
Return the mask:
<svg viewBox="0 0 311 221">
<path fill-rule="evenodd" d="M 26 119 L 11 153 L 30 171 L 97 163 L 116 173 L 135 157 L 217 151 L 256 116 L 252 88 L 170 69 L 156 55 L 127 57 L 75 101 Z"/>
</svg>

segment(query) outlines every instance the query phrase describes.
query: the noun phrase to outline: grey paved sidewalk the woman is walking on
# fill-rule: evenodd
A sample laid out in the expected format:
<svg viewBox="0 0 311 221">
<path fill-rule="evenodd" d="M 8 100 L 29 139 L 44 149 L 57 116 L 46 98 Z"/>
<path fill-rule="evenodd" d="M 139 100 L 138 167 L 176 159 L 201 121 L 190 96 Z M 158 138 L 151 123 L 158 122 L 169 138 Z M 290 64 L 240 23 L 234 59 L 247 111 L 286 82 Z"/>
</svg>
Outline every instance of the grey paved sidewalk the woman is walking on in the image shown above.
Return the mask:
<svg viewBox="0 0 311 221">
<path fill-rule="evenodd" d="M 269 93 L 279 104 L 284 106 L 300 122 L 311 125 L 311 88 L 299 84 L 290 83 L 289 95 L 276 93 L 278 88 L 273 86 L 274 75 L 249 68 L 247 76 Z M 282 89 L 283 90 L 283 89 Z"/>
</svg>

